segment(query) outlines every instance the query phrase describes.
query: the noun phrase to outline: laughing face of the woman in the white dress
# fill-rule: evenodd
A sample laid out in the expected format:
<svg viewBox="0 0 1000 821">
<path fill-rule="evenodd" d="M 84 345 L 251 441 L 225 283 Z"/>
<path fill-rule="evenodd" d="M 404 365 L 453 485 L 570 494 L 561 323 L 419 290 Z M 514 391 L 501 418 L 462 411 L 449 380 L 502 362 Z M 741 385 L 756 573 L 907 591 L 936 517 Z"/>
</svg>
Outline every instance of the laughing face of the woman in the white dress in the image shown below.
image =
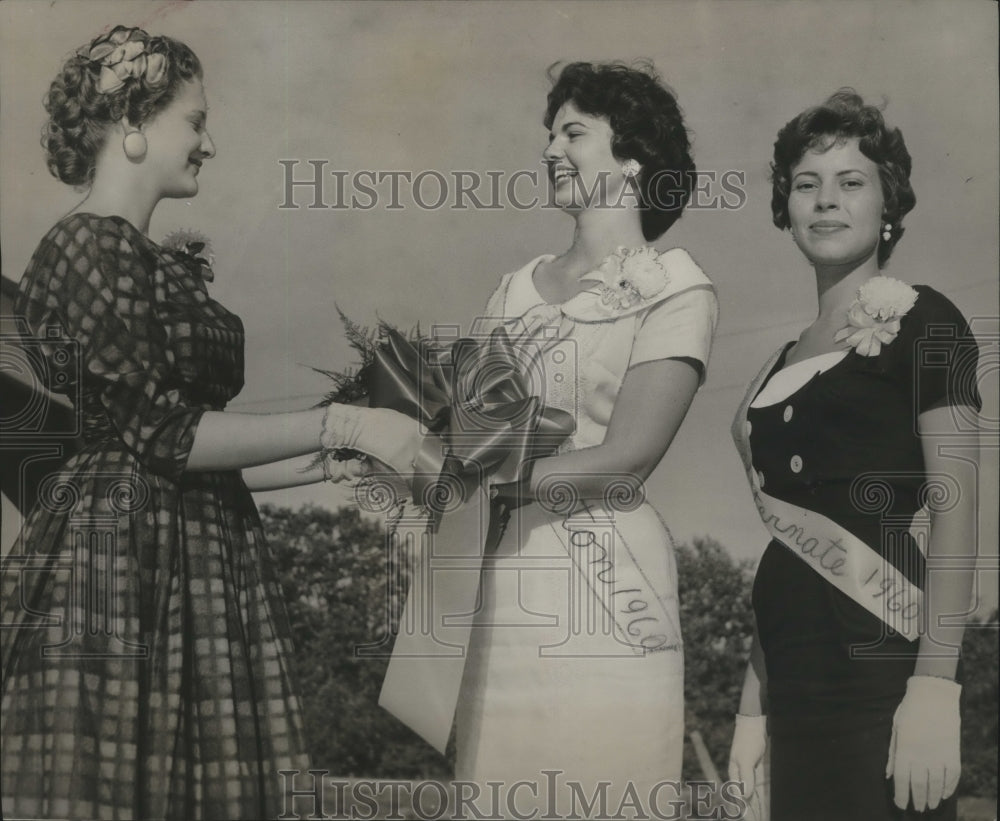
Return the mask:
<svg viewBox="0 0 1000 821">
<path fill-rule="evenodd" d="M 607 120 L 584 114 L 572 101 L 559 109 L 542 152 L 556 205 L 578 211 L 627 201 L 621 161 L 611 153 L 613 137 Z"/>
</svg>

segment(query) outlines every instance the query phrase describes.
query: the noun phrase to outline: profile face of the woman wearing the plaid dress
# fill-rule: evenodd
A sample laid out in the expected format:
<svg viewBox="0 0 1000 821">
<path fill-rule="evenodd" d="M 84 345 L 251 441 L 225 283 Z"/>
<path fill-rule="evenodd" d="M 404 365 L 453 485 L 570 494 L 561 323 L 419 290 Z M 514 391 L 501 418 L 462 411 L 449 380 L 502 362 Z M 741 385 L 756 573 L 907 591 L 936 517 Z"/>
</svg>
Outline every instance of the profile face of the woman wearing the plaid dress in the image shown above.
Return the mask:
<svg viewBox="0 0 1000 821">
<path fill-rule="evenodd" d="M 215 156 L 205 128 L 208 105 L 200 80 L 185 82 L 173 101 L 142 129 L 148 148 L 143 165 L 154 175 L 162 197 L 193 197 L 198 170 Z"/>
</svg>

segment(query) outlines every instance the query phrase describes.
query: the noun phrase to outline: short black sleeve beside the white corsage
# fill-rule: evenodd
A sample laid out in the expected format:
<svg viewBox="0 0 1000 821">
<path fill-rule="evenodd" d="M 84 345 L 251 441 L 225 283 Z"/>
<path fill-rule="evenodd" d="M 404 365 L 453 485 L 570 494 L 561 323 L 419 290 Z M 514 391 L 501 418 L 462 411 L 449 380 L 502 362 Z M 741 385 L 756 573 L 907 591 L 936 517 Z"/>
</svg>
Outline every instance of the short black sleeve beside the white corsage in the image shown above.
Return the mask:
<svg viewBox="0 0 1000 821">
<path fill-rule="evenodd" d="M 900 336 L 908 347 L 907 376 L 916 378 L 917 412 L 945 405 L 982 409 L 979 346 L 961 311 L 943 294 L 916 286 L 917 301 Z"/>
</svg>

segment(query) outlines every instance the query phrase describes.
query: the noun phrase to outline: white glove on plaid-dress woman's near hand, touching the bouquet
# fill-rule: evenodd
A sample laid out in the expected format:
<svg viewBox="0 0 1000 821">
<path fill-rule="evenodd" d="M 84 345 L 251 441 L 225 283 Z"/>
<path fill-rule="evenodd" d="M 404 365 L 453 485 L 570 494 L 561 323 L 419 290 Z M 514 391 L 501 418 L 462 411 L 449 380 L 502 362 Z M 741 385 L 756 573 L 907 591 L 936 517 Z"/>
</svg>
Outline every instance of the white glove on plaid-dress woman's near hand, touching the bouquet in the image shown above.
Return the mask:
<svg viewBox="0 0 1000 821">
<path fill-rule="evenodd" d="M 405 414 L 337 403 L 326 409 L 320 436 L 324 448 L 359 450 L 403 476 L 413 473 L 421 441 L 417 421 Z"/>
</svg>

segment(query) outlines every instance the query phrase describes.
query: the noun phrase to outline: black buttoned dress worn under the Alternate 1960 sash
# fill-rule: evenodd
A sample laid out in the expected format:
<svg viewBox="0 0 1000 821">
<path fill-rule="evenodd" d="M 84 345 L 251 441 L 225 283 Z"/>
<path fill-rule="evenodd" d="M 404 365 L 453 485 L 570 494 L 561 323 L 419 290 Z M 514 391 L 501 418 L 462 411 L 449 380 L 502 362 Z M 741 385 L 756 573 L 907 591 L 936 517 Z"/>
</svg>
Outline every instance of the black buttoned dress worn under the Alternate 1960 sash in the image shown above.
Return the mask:
<svg viewBox="0 0 1000 821">
<path fill-rule="evenodd" d="M 943 404 L 978 410 L 981 401 L 968 323 L 937 291 L 916 290 L 879 355 L 849 352 L 786 398 L 751 407 L 748 421 L 767 494 L 832 519 L 922 589 L 918 540 L 927 528 L 921 535 L 911 524 L 936 490 L 917 418 Z M 761 558 L 753 606 L 767 669 L 772 821 L 910 817 L 894 807 L 885 767 L 918 642 L 777 541 Z M 955 803 L 913 817 L 954 818 Z"/>
</svg>

